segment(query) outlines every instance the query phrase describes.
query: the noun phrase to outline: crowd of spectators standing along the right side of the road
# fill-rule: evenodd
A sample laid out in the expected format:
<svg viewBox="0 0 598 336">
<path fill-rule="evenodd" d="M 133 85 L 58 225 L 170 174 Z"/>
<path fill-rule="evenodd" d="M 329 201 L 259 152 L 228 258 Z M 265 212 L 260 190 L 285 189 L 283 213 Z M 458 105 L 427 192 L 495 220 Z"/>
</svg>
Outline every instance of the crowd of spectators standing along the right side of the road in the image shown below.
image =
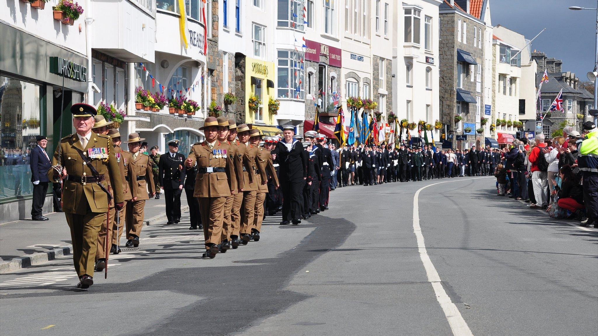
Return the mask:
<svg viewBox="0 0 598 336">
<path fill-rule="evenodd" d="M 598 129 L 582 134 L 567 126 L 563 136 L 515 139 L 501 150 L 495 176 L 499 196 L 523 200 L 556 219 L 598 227 Z"/>
</svg>

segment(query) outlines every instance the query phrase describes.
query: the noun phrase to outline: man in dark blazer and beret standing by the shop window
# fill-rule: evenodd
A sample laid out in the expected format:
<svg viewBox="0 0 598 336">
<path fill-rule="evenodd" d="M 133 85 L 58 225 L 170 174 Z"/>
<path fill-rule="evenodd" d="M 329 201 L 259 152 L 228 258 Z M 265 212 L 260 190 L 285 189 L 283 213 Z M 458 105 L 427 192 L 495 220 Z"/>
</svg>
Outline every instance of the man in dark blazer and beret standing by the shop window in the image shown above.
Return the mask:
<svg viewBox="0 0 598 336">
<path fill-rule="evenodd" d="M 45 194 L 48 192 L 47 173 L 52 166 L 50 157 L 45 151 L 48 145 L 48 138 L 40 135 L 36 138 L 37 146 L 31 151 L 29 166 L 31 167 L 31 182 L 33 182 L 33 203 L 31 204 L 31 219 L 33 221 L 47 221 L 48 218 L 41 213 L 44 207 Z"/>
</svg>

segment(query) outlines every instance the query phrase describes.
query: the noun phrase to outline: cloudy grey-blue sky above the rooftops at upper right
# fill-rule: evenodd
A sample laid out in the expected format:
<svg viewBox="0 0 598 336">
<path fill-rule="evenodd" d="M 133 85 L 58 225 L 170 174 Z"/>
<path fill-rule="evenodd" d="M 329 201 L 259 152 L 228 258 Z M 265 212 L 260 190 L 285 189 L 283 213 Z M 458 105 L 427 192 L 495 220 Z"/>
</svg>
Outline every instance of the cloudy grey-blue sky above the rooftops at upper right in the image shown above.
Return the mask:
<svg viewBox="0 0 598 336">
<path fill-rule="evenodd" d="M 596 8 L 596 0 L 490 0 L 492 25 L 501 25 L 532 39 L 532 50 L 563 60 L 563 71 L 587 81 L 594 68 L 596 11 L 569 10 L 570 6 Z"/>
</svg>

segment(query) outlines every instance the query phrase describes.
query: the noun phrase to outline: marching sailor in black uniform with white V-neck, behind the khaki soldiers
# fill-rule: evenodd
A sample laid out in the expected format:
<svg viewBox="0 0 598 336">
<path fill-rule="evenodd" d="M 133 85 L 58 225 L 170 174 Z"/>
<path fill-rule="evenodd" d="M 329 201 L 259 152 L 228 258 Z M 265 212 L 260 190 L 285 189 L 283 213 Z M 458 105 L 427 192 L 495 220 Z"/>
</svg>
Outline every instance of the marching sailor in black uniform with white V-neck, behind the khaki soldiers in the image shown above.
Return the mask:
<svg viewBox="0 0 598 336">
<path fill-rule="evenodd" d="M 282 222 L 280 225 L 301 223 L 303 186 L 307 179 L 307 155 L 301 142 L 293 139 L 295 126 L 283 126 L 284 138 L 273 150 L 280 162 L 280 185 L 282 185 Z"/>
</svg>

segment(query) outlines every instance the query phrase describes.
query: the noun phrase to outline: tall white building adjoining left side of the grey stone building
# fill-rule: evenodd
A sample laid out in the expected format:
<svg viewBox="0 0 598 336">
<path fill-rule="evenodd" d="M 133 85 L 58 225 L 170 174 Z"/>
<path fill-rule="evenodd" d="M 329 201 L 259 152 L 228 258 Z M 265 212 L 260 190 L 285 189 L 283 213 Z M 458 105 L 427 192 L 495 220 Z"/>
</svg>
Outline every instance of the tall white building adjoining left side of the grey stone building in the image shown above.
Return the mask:
<svg viewBox="0 0 598 336">
<path fill-rule="evenodd" d="M 440 120 L 438 7 L 441 3 L 440 0 L 415 0 L 395 4 L 392 106 L 398 120 L 406 118 L 413 123 L 423 120 L 432 125 Z M 406 132 L 402 134 L 403 139 Z M 411 131 L 411 137 L 417 137 L 417 130 Z M 440 141 L 438 130 L 434 131 L 434 140 Z"/>
</svg>

